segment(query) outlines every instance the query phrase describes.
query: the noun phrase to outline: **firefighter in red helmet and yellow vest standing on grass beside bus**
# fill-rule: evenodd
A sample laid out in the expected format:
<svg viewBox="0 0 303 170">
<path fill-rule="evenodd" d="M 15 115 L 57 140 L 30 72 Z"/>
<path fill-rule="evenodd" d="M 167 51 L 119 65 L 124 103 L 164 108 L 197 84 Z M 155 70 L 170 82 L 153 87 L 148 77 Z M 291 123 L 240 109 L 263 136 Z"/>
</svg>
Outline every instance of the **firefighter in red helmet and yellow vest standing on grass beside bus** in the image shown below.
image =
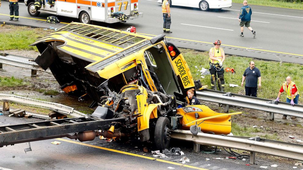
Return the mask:
<svg viewBox="0 0 303 170">
<path fill-rule="evenodd" d="M 209 50 L 209 64 L 210 64 L 210 73 L 215 76 L 217 79 L 217 75 L 221 81 L 222 90 L 225 88 L 225 81 L 224 81 L 224 68 L 223 62 L 225 60 L 225 53 L 222 48 L 220 48 L 221 41 L 216 40 L 214 42 L 214 47 L 210 48 Z M 211 88 L 214 89 L 214 81 L 212 76 L 210 77 L 210 85 Z"/>
</svg>

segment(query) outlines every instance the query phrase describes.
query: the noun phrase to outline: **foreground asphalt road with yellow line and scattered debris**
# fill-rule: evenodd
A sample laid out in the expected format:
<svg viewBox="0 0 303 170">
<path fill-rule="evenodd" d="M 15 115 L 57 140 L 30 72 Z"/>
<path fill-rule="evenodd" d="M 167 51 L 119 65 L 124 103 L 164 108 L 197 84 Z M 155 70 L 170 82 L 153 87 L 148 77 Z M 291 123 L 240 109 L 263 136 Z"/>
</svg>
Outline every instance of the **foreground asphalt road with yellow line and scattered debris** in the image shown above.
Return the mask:
<svg viewBox="0 0 303 170">
<path fill-rule="evenodd" d="M 0 126 L 9 124 L 21 124 L 28 122 L 43 121 L 35 118 L 15 118 L 7 115 L 0 115 Z M 61 142 L 59 145 L 51 144 L 53 141 Z M 268 166 L 269 170 L 283 170 L 293 167 L 292 164 L 282 164 L 275 161 L 264 160 L 256 154 L 258 160 L 255 165 L 247 166 L 249 159 L 234 160 L 226 159 L 225 151 L 218 148 L 216 154 L 193 153 L 192 143 L 173 140 L 171 147 L 180 147 L 184 155 L 167 155 L 168 158 L 152 157 L 151 152 L 144 153 L 143 145 L 136 139 L 126 140 L 125 143 L 105 142 L 96 138 L 93 141 L 78 142 L 75 140 L 51 139 L 31 142 L 31 149 L 28 143 L 15 144 L 0 148 L 0 170 L 4 168 L 14 170 L 41 170 L 41 169 L 65 169 L 65 170 L 164 170 L 168 167 L 177 169 L 214 169 L 214 170 L 254 170 L 261 169 L 260 166 Z M 214 151 L 214 148 L 201 147 L 201 151 Z M 238 151 L 240 152 L 240 151 Z M 190 159 L 189 163 L 181 164 L 180 159 L 186 156 Z M 210 160 L 206 160 L 209 158 Z M 213 159 L 213 158 L 223 158 Z M 273 168 L 269 165 L 278 164 L 279 167 Z"/>
</svg>

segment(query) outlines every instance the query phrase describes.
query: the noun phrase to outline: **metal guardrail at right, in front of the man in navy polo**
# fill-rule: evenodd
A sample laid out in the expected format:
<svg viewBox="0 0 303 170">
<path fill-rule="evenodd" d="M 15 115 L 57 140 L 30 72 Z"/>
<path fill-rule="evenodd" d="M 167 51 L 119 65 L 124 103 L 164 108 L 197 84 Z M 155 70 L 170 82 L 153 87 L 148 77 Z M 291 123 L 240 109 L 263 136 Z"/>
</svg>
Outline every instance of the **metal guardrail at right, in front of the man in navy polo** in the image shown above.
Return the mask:
<svg viewBox="0 0 303 170">
<path fill-rule="evenodd" d="M 272 100 L 262 99 L 257 97 L 244 96 L 240 94 L 225 93 L 215 90 L 197 91 L 196 96 L 199 100 L 210 101 L 214 103 L 250 108 L 270 112 L 270 119 L 273 120 L 273 113 L 290 115 L 303 118 L 303 105 L 290 103 L 273 102 Z M 273 104 L 276 103 L 276 104 Z M 228 112 L 228 109 L 225 109 Z"/>
</svg>

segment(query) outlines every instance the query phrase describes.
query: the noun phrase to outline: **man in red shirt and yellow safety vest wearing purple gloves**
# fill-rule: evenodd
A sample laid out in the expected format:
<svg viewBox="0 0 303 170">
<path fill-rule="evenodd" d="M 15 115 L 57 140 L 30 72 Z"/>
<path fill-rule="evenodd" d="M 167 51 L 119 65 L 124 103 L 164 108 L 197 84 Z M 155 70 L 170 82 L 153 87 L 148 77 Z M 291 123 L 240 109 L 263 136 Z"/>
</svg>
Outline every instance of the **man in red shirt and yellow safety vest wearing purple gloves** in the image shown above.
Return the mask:
<svg viewBox="0 0 303 170">
<path fill-rule="evenodd" d="M 292 106 L 294 104 L 298 104 L 299 102 L 299 92 L 296 84 L 291 81 L 291 77 L 288 76 L 286 77 L 286 81 L 282 84 L 282 87 L 279 91 L 278 97 L 275 101 L 279 101 L 280 95 L 282 92 L 285 91 L 287 96 L 286 96 L 286 102 L 290 103 Z M 282 119 L 286 119 L 287 115 L 283 115 Z"/>
</svg>

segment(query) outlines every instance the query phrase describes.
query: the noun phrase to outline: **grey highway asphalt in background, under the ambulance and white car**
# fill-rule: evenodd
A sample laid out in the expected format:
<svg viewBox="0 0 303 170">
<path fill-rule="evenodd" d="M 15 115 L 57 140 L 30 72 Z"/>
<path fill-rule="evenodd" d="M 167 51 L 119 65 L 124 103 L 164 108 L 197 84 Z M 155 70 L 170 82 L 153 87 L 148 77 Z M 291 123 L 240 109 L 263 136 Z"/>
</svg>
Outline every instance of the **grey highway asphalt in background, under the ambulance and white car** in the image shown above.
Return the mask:
<svg viewBox="0 0 303 170">
<path fill-rule="evenodd" d="M 21 2 L 22 3 L 22 2 Z M 220 39 L 226 54 L 248 56 L 282 62 L 303 64 L 303 12 L 302 10 L 282 9 L 250 5 L 253 10 L 251 27 L 257 36 L 245 28 L 245 37 L 239 37 L 239 22 L 235 19 L 242 4 L 233 3 L 231 8 L 216 9 L 208 12 L 196 8 L 172 6 L 172 34 L 167 39 L 178 47 L 208 51 L 212 43 Z M 7 8 L 5 8 L 5 6 Z M 144 13 L 140 19 L 130 20 L 127 23 L 97 23 L 94 24 L 126 30 L 135 26 L 138 33 L 148 35 L 163 34 L 161 4 L 156 0 L 141 0 L 139 11 Z M 49 14 L 41 13 L 38 17 L 31 17 L 27 7 L 20 4 L 20 16 L 43 19 Z M 8 2 L 2 1 L 0 21 L 18 23 L 36 27 L 49 26 L 60 28 L 64 24 L 50 24 L 41 20 L 20 17 L 20 21 L 8 21 Z M 61 22 L 77 21 L 75 18 L 59 16 Z"/>
</svg>

